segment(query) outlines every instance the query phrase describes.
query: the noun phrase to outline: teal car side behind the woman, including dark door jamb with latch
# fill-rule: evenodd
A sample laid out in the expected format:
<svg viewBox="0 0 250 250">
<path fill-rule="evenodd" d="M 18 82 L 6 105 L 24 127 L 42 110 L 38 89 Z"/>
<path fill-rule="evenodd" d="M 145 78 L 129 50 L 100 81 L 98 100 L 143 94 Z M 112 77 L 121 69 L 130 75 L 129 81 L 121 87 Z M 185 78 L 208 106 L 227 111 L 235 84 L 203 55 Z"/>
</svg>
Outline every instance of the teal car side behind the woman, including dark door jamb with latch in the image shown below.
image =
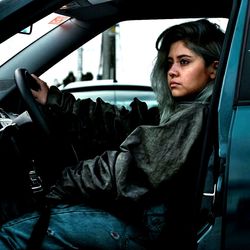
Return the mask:
<svg viewBox="0 0 250 250">
<path fill-rule="evenodd" d="M 218 144 L 212 169 L 215 182 L 210 192 L 204 189 L 202 201 L 204 206 L 204 200 L 210 198 L 213 205 L 207 224 L 198 233 L 199 250 L 250 249 L 250 6 L 249 0 L 234 3 L 214 113 Z"/>
</svg>

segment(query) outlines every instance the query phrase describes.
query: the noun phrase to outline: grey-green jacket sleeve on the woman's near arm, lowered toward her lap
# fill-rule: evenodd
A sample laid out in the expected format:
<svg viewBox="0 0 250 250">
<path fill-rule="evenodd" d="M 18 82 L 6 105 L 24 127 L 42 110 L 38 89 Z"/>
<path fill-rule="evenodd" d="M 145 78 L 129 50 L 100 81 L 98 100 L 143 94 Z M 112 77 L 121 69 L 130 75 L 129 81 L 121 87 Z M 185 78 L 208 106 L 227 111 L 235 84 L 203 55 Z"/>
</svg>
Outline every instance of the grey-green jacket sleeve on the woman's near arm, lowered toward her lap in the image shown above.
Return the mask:
<svg viewBox="0 0 250 250">
<path fill-rule="evenodd" d="M 197 148 L 203 109 L 190 108 L 162 126 L 140 126 L 118 151 L 81 161 L 63 172 L 47 198 L 98 200 L 108 198 L 138 202 L 163 189 L 192 167 L 191 152 Z M 197 154 L 198 151 L 195 151 Z M 190 171 L 190 169 L 188 169 Z"/>
</svg>

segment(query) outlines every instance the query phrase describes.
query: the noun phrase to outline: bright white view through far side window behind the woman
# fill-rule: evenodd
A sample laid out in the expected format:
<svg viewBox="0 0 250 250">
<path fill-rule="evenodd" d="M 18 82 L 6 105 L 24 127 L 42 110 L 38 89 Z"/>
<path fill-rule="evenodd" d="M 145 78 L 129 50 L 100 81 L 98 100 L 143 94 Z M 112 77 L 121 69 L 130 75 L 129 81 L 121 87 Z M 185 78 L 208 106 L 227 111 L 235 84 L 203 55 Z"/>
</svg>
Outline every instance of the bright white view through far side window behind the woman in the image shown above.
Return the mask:
<svg viewBox="0 0 250 250">
<path fill-rule="evenodd" d="M 80 81 L 82 74 L 91 73 L 97 80 L 102 75 L 107 61 L 102 61 L 105 34 L 114 37 L 109 46 L 114 47 L 115 72 L 110 75 L 115 81 L 130 81 L 150 85 L 150 73 L 156 57 L 155 42 L 166 28 L 191 19 L 136 20 L 116 24 L 99 34 L 79 49 L 72 52 L 41 77 L 51 85 L 61 85 L 70 72 Z M 195 20 L 195 19 L 192 19 Z M 209 19 L 226 30 L 226 18 Z"/>
</svg>

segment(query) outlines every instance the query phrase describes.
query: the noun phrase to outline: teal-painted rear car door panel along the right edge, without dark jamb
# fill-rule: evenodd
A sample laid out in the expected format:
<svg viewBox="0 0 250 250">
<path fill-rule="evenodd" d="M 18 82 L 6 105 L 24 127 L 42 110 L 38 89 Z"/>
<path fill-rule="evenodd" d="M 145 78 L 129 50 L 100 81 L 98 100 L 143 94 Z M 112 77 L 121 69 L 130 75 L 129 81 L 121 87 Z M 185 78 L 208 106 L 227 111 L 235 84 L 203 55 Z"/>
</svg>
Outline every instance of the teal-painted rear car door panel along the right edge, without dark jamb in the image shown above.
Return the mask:
<svg viewBox="0 0 250 250">
<path fill-rule="evenodd" d="M 249 1 L 239 8 L 219 105 L 219 154 L 225 169 L 222 249 L 250 249 Z"/>
</svg>

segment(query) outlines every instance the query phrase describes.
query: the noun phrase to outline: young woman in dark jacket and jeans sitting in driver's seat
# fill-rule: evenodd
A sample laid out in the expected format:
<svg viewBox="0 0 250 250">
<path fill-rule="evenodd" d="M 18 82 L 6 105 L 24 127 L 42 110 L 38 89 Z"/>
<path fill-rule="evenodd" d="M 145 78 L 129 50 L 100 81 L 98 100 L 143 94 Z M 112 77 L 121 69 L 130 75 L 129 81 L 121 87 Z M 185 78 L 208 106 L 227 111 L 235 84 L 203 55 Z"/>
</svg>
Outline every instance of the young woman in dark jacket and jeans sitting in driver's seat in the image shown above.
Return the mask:
<svg viewBox="0 0 250 250">
<path fill-rule="evenodd" d="M 69 137 L 85 141 L 79 149 L 84 160 L 66 168 L 46 196 L 51 211 L 42 249 L 149 249 L 163 232 L 178 230 L 179 242 L 186 236 L 185 247 L 194 244 L 184 215 L 192 212 L 189 198 L 223 39 L 205 19 L 159 36 L 152 71 L 159 112 L 139 100 L 130 112 L 100 99 L 75 100 L 34 76 L 41 89 L 33 95 L 50 119 L 67 117 Z M 86 159 L 87 148 L 100 155 Z M 38 219 L 34 212 L 4 224 L 0 248 L 25 249 Z"/>
</svg>

